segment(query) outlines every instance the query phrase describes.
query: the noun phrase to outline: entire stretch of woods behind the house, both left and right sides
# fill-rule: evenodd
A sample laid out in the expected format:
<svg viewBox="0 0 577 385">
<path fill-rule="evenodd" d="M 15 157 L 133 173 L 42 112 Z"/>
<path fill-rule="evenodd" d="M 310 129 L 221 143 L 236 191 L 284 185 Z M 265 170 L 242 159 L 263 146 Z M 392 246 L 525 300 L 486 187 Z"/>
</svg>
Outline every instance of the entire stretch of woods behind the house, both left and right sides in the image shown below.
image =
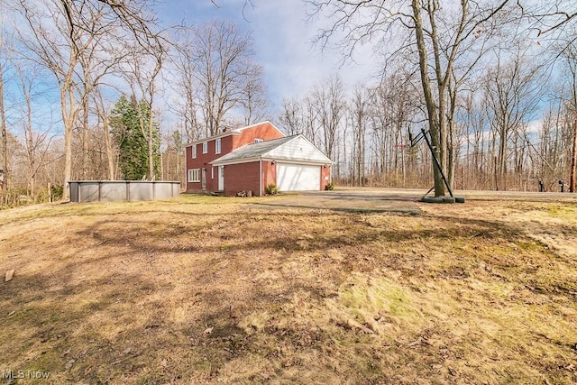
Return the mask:
<svg viewBox="0 0 577 385">
<path fill-rule="evenodd" d="M 453 188 L 574 186 L 572 2 L 306 3 L 334 22 L 321 46 L 370 42 L 381 71 L 312 80 L 276 110 L 235 23 L 166 28 L 148 0 L 3 3 L 0 206 L 67 199 L 72 179 L 184 180 L 187 142 L 264 119 L 325 151 L 337 184 L 443 194 L 408 140 L 425 130 Z"/>
</svg>

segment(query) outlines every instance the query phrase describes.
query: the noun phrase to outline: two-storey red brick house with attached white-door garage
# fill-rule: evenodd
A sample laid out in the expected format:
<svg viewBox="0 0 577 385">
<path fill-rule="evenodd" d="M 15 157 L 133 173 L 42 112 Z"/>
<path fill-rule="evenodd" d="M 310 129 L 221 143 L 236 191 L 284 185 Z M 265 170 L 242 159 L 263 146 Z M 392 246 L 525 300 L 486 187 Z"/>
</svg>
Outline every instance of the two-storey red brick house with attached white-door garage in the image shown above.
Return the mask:
<svg viewBox="0 0 577 385">
<path fill-rule="evenodd" d="M 280 191 L 321 190 L 333 163 L 304 136 L 286 136 L 270 122 L 189 143 L 186 158 L 187 192 L 224 195 L 263 196 L 270 183 Z"/>
</svg>

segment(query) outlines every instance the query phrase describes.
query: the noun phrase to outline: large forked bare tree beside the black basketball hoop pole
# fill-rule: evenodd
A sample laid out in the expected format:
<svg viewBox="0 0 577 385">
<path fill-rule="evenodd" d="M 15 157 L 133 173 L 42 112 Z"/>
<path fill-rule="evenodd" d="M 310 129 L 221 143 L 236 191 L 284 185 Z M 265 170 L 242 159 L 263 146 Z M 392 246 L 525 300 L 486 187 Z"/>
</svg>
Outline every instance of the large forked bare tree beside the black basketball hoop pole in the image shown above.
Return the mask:
<svg viewBox="0 0 577 385">
<path fill-rule="evenodd" d="M 437 0 L 383 2 L 378 0 L 308 0 L 313 14 L 327 11 L 334 18 L 331 28 L 321 31 L 318 42 L 329 40 L 351 55 L 357 45 L 384 39 L 399 28 L 410 31 L 418 54 L 422 93 L 426 105 L 431 142 L 441 165 L 447 164 L 447 89 L 459 52 L 479 33 L 491 29 L 496 15 L 508 0 L 495 2 L 461 1 L 441 7 Z M 344 31 L 340 37 L 337 33 Z M 435 196 L 444 196 L 441 170 L 434 167 Z"/>
</svg>

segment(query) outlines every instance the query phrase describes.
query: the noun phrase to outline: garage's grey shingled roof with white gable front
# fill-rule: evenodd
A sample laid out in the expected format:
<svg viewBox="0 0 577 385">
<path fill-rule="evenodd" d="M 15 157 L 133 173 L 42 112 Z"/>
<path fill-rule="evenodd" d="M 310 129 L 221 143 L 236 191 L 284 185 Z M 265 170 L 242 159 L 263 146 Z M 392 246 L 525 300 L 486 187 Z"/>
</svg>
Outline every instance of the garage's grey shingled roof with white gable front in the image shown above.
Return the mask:
<svg viewBox="0 0 577 385">
<path fill-rule="evenodd" d="M 291 162 L 332 164 L 325 154 L 302 135 L 287 136 L 244 145 L 210 162 L 213 166 L 244 163 L 255 160 L 288 160 Z"/>
</svg>

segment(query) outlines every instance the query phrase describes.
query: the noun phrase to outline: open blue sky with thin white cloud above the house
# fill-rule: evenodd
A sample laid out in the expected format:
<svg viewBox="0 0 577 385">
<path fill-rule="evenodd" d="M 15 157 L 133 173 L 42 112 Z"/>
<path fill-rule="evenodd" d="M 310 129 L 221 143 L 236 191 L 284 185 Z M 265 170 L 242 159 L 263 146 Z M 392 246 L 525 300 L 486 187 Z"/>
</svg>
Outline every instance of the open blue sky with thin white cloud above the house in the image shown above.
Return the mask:
<svg viewBox="0 0 577 385">
<path fill-rule="evenodd" d="M 356 63 L 340 66 L 335 50 L 321 52 L 312 40 L 323 20 L 307 22 L 301 0 L 163 0 L 156 10 L 160 22 L 194 24 L 210 19 L 232 20 L 252 30 L 256 60 L 263 66 L 265 82 L 274 107 L 285 97 L 302 96 L 311 87 L 334 73 L 350 86 L 369 80 L 376 67 L 371 49 L 355 57 Z"/>
</svg>

